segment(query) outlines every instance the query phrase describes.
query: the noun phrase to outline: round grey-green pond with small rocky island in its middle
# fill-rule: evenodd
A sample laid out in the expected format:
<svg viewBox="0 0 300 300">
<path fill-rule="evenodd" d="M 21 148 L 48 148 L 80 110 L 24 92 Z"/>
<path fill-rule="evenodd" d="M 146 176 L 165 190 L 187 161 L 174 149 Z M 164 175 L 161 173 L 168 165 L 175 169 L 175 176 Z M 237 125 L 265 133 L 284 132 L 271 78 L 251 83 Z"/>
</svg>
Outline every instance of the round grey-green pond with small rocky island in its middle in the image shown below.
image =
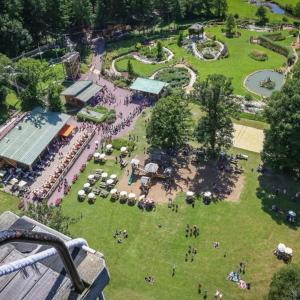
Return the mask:
<svg viewBox="0 0 300 300">
<path fill-rule="evenodd" d="M 275 83 L 273 89 L 261 86 L 263 81 L 270 80 Z M 250 74 L 245 80 L 245 87 L 255 94 L 263 97 L 269 97 L 275 91 L 280 91 L 285 83 L 285 75 L 272 70 L 262 70 Z"/>
</svg>

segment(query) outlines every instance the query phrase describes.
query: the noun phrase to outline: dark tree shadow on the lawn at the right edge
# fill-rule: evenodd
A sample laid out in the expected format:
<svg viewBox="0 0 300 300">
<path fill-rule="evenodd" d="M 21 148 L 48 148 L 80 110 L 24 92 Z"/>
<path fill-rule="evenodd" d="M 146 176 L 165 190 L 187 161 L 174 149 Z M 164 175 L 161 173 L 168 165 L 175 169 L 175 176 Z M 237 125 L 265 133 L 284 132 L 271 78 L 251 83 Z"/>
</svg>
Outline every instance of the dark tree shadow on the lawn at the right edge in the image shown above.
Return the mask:
<svg viewBox="0 0 300 300">
<path fill-rule="evenodd" d="M 266 171 L 258 178 L 257 197 L 261 200 L 262 209 L 268 213 L 277 224 L 284 224 L 292 229 L 300 226 L 300 197 L 295 197 L 300 183 L 288 175 Z M 279 208 L 272 210 L 272 205 Z M 287 221 L 287 212 L 293 210 L 297 214 L 295 223 Z"/>
</svg>

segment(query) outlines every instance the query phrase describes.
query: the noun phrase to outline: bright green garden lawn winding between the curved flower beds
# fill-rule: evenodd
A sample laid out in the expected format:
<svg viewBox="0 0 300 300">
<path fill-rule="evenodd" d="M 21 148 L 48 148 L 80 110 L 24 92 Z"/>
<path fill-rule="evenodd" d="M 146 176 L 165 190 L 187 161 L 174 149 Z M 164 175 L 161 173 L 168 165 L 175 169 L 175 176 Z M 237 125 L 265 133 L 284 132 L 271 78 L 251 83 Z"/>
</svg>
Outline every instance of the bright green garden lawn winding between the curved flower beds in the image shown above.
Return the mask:
<svg viewBox="0 0 300 300">
<path fill-rule="evenodd" d="M 186 49 L 178 47 L 176 40 L 164 41 L 164 45 L 171 49 L 175 54 L 175 60 L 183 58 L 189 65 L 198 71 L 200 80 L 203 80 L 209 74 L 219 73 L 232 77 L 234 92 L 236 94 L 246 94 L 248 91 L 243 87 L 243 82 L 247 75 L 261 69 L 276 69 L 281 67 L 286 58 L 282 55 L 274 53 L 259 45 L 251 45 L 249 43 L 250 36 L 255 35 L 254 32 L 241 30 L 240 38 L 226 38 L 221 27 L 212 27 L 207 30 L 211 34 L 215 34 L 217 39 L 225 42 L 229 48 L 229 57 L 218 61 L 205 62 L 197 59 Z M 290 38 L 289 38 L 290 39 Z M 292 39 L 292 38 L 291 38 Z M 284 41 L 290 44 L 290 40 Z M 255 61 L 249 57 L 249 53 L 253 50 L 264 51 L 268 55 L 268 60 L 264 62 Z M 139 61 L 132 60 L 133 68 L 140 76 L 149 77 L 155 71 L 166 65 L 145 65 Z M 125 71 L 127 67 L 127 59 L 120 60 L 116 63 L 119 71 Z"/>
</svg>

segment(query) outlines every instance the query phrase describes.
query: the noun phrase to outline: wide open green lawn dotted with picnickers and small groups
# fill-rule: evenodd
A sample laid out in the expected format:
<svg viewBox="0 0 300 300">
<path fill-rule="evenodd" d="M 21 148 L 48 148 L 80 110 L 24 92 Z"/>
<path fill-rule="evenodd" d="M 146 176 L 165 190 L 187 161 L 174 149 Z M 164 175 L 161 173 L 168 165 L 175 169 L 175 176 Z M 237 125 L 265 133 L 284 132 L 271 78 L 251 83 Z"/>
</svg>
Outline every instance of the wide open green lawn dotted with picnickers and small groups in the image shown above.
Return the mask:
<svg viewBox="0 0 300 300">
<path fill-rule="evenodd" d="M 144 146 L 144 118 L 140 118 L 134 133 Z M 138 151 L 141 148 L 139 146 Z M 208 290 L 209 298 L 220 289 L 228 299 L 263 299 L 272 274 L 283 266 L 272 255 L 274 247 L 284 242 L 295 253 L 300 251 L 297 228 L 290 228 L 282 216 L 277 219 L 272 215 L 271 205 L 279 203 L 280 207 L 297 212 L 300 206 L 288 199 L 271 200 L 267 193 L 257 194 L 260 191 L 258 174 L 251 169 L 259 164 L 259 155 L 242 152 L 249 155 L 249 160 L 242 163 L 246 182 L 239 203 L 205 206 L 197 201 L 192 208 L 179 195 L 178 213 L 172 212 L 166 204 L 159 205 L 155 212 L 143 213 L 137 207 L 112 203 L 109 199 L 98 198 L 94 205 L 86 201 L 79 203 L 78 190 L 88 174 L 99 168 L 93 162 L 88 165 L 65 197 L 63 210 L 73 217 L 82 216 L 71 226 L 72 235 L 86 238 L 91 247 L 104 253 L 111 274 L 111 283 L 105 290 L 108 299 L 199 299 L 199 282 L 203 290 Z M 109 174 L 122 173 L 114 157 L 103 169 Z M 185 238 L 186 224 L 200 226 L 200 237 Z M 123 244 L 117 244 L 113 238 L 116 229 L 129 232 L 129 239 Z M 212 247 L 215 241 L 220 242 L 220 249 Z M 199 251 L 194 262 L 184 261 L 188 245 Z M 241 260 L 247 263 L 243 278 L 252 283 L 251 291 L 241 290 L 226 280 L 227 274 L 236 270 Z M 295 255 L 294 262 L 300 263 L 299 256 Z M 172 278 L 173 264 L 176 264 L 176 275 Z M 154 285 L 145 283 L 147 275 L 155 277 Z"/>
</svg>

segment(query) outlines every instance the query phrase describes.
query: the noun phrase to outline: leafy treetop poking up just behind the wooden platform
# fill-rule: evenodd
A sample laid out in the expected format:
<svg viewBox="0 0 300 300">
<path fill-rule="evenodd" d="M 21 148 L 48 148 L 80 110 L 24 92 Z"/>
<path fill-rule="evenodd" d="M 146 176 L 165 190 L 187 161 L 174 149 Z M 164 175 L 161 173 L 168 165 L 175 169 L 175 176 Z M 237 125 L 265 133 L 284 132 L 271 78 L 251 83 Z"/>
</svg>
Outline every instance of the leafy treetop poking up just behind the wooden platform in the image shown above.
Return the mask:
<svg viewBox="0 0 300 300">
<path fill-rule="evenodd" d="M 66 235 L 70 235 L 69 226 L 76 222 L 76 219 L 65 216 L 61 207 L 49 206 L 47 201 L 29 204 L 24 215 Z"/>
</svg>

